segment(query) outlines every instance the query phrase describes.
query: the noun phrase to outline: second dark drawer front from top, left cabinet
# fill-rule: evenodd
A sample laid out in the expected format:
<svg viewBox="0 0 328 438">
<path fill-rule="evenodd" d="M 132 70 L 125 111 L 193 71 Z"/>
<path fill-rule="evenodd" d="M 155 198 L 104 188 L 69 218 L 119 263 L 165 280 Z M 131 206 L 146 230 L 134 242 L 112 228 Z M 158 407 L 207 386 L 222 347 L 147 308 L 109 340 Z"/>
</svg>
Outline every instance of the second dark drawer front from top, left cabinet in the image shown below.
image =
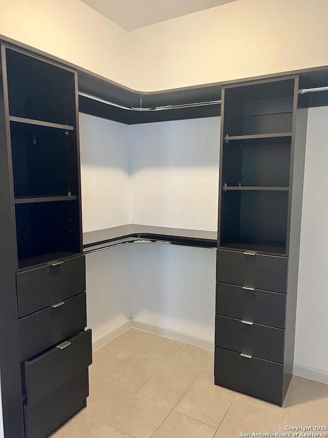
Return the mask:
<svg viewBox="0 0 328 438">
<path fill-rule="evenodd" d="M 87 327 L 86 293 L 18 319 L 18 325 L 24 361 Z"/>
</svg>

